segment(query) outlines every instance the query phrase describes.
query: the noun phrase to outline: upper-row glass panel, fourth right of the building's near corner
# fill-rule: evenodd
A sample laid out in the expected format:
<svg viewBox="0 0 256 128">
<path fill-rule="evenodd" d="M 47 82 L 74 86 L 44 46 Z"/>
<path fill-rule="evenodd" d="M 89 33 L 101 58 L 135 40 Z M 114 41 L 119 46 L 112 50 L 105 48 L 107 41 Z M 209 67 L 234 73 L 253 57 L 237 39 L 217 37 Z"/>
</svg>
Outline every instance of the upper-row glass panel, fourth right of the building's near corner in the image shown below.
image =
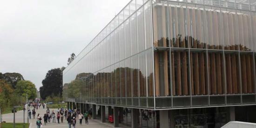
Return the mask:
<svg viewBox="0 0 256 128">
<path fill-rule="evenodd" d="M 205 7 L 205 23 L 207 31 L 206 43 L 209 49 L 223 49 L 221 11 L 218 7 Z"/>
</svg>

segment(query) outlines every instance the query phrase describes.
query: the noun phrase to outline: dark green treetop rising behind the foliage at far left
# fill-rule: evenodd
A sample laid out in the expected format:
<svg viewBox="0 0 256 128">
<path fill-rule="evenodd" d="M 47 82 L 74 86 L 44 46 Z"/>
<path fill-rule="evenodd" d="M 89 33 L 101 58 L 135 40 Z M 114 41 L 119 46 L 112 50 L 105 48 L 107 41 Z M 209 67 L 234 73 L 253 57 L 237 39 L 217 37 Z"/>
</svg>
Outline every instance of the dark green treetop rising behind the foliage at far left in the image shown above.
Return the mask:
<svg viewBox="0 0 256 128">
<path fill-rule="evenodd" d="M 19 73 L 5 73 L 3 74 L 4 79 L 12 85 L 13 89 L 16 88 L 16 84 L 18 81 L 24 80 L 23 76 Z"/>
</svg>

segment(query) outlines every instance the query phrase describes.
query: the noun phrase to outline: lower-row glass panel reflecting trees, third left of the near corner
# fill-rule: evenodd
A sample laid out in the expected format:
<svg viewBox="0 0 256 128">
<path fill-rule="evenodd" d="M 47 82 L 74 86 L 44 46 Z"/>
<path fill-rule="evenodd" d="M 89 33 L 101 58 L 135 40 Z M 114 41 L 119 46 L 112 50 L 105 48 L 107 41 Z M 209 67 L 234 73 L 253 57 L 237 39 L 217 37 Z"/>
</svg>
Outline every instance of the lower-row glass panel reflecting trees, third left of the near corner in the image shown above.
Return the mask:
<svg viewBox="0 0 256 128">
<path fill-rule="evenodd" d="M 132 78 L 132 81 L 131 81 L 131 85 L 132 85 L 132 96 L 133 97 L 138 97 L 138 88 L 139 88 L 139 76 L 138 76 L 138 55 L 134 55 L 131 57 L 131 67 L 132 67 L 132 70 L 131 70 L 131 78 Z"/>
</svg>

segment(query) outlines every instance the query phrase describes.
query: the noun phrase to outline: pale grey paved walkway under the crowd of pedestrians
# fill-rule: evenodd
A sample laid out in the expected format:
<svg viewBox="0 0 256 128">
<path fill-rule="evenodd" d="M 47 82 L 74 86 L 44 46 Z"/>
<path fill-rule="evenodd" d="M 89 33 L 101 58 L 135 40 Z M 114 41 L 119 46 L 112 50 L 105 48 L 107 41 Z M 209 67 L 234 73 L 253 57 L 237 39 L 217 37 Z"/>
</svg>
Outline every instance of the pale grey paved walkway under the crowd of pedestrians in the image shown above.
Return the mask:
<svg viewBox="0 0 256 128">
<path fill-rule="evenodd" d="M 32 109 L 32 108 L 30 108 Z M 56 109 L 50 109 L 50 112 L 54 110 L 56 112 Z M 42 109 L 42 107 L 38 110 L 36 110 L 36 115 L 40 114 L 40 116 L 43 118 L 44 113 L 46 113 L 46 109 Z M 6 122 L 13 122 L 13 113 L 5 114 L 2 116 L 3 120 Z M 52 121 L 52 120 L 51 120 Z M 23 111 L 18 111 L 15 113 L 15 122 L 23 122 Z M 27 111 L 25 111 L 25 122 L 27 122 Z M 31 119 L 29 119 L 30 127 L 29 128 L 37 128 L 36 127 L 36 119 L 33 119 L 33 116 L 31 115 Z M 58 124 L 57 119 L 56 123 L 47 123 L 44 125 L 44 121 L 42 120 L 43 127 L 42 128 L 68 128 L 67 120 L 63 120 L 63 123 Z M 85 120 L 83 119 L 82 125 L 79 124 L 79 120 L 76 121 L 76 127 L 75 128 L 114 128 L 112 123 L 101 123 L 99 120 L 89 120 L 89 124 L 85 124 Z M 121 125 L 119 128 L 129 128 L 127 126 Z"/>
</svg>

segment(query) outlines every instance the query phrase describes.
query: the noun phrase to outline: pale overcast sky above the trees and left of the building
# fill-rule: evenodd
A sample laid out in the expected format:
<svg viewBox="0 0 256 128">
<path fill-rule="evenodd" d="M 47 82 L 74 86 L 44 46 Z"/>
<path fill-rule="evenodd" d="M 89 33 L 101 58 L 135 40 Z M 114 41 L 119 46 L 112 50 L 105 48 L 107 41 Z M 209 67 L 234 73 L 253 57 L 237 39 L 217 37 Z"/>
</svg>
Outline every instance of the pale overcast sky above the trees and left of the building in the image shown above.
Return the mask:
<svg viewBox="0 0 256 128">
<path fill-rule="evenodd" d="M 0 0 L 0 72 L 39 89 L 48 70 L 66 67 L 130 0 Z"/>
</svg>

